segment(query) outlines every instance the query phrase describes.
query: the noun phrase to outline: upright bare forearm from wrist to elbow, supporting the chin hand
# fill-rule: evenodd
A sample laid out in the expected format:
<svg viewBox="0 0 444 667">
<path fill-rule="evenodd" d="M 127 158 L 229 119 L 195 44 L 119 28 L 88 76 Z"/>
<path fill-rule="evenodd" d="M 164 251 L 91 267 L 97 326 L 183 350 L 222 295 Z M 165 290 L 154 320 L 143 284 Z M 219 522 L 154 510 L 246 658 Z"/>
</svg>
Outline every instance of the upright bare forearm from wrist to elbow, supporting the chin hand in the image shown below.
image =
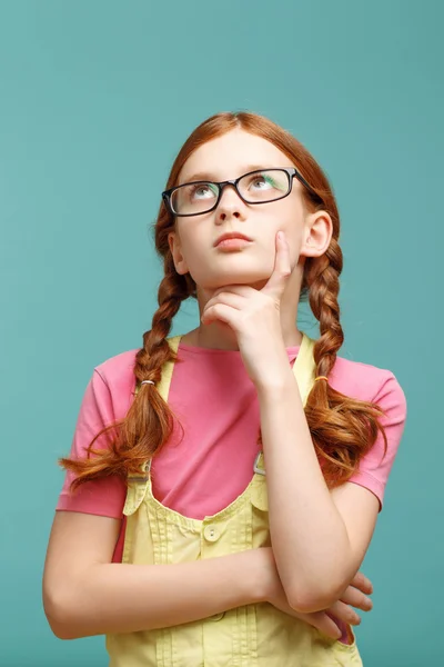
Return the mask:
<svg viewBox="0 0 444 667">
<path fill-rule="evenodd" d="M 296 379 L 289 371 L 258 388 L 270 531 L 290 604 L 303 609 L 314 600 L 321 609 L 350 575 L 351 547 L 317 461 Z"/>
</svg>

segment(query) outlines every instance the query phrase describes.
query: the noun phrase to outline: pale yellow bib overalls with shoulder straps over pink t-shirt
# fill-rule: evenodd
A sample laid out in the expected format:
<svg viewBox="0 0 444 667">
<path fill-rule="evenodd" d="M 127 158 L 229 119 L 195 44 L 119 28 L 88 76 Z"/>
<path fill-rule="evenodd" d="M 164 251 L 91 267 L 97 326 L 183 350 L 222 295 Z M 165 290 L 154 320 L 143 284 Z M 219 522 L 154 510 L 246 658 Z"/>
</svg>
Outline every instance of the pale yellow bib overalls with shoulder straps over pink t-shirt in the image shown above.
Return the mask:
<svg viewBox="0 0 444 667">
<path fill-rule="evenodd" d="M 180 338 L 169 338 L 174 351 Z M 314 381 L 313 345 L 304 334 L 293 366 L 304 405 Z M 173 366 L 169 361 L 162 369 L 158 389 L 164 400 Z M 271 546 L 262 458 L 259 452 L 245 490 L 203 520 L 184 517 L 153 497 L 149 461 L 143 476 L 129 480 L 122 563 L 188 563 Z M 355 637 L 347 629 L 350 645 L 261 603 L 169 628 L 110 634 L 107 649 L 110 667 L 362 667 Z"/>
</svg>

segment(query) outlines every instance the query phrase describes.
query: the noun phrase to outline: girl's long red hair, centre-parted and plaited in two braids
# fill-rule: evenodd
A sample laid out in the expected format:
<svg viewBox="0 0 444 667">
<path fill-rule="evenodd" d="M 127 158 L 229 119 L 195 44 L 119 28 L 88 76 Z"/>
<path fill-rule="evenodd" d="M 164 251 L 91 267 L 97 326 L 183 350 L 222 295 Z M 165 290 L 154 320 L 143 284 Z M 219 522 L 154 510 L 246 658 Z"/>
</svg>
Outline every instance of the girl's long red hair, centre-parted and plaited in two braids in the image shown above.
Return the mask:
<svg viewBox="0 0 444 667">
<path fill-rule="evenodd" d="M 310 152 L 290 132 L 263 116 L 244 111 L 216 113 L 203 121 L 186 139 L 172 166 L 165 189 L 178 185 L 182 167 L 200 146 L 236 128 L 262 137 L 279 148 L 317 195 L 316 198 L 306 188 L 302 189 L 309 210 L 325 210 L 333 221 L 333 235 L 325 253 L 305 260 L 300 296 L 301 301 L 309 300 L 320 322 L 320 338 L 313 352 L 316 376 L 329 376 L 344 340 L 337 303 L 343 256 L 337 240 L 340 217 L 336 201 L 325 173 Z M 169 360 L 176 360 L 167 337 L 182 301 L 189 297 L 196 299 L 194 280 L 189 273 L 179 275 L 174 268 L 168 242 L 168 235 L 174 230 L 174 217 L 162 202 L 154 226 L 154 238 L 155 249 L 163 258 L 164 276 L 159 286 L 159 308 L 153 315 L 151 329 L 143 334 L 143 347 L 135 355 L 134 376 L 138 386 L 142 380 L 158 384 L 162 366 Z M 383 415 L 384 411 L 375 404 L 344 396 L 326 381 L 314 382 L 305 405 L 305 417 L 330 488 L 343 484 L 357 470 L 360 459 L 374 445 L 379 431 L 384 438 L 386 452 L 387 440 L 380 421 Z M 127 479 L 129 472 L 140 472 L 141 466 L 169 440 L 175 419 L 153 385 L 140 386 L 124 419 L 108 425 L 95 435 L 89 445 L 87 458 L 59 460 L 63 468 L 77 475 L 71 488 L 74 490 L 85 481 L 108 475 L 120 475 Z M 109 447 L 94 449 L 94 442 L 102 435 L 108 437 Z M 90 456 L 92 454 L 93 457 Z"/>
</svg>

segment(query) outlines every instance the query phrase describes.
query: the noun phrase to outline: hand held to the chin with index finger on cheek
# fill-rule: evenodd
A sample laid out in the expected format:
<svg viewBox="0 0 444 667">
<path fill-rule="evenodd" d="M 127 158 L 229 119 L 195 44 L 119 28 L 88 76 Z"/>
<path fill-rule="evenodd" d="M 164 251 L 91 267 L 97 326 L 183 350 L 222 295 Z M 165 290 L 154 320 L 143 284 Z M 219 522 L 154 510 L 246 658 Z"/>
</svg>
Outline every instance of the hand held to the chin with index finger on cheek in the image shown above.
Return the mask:
<svg viewBox="0 0 444 667">
<path fill-rule="evenodd" d="M 282 235 L 282 238 L 280 237 Z M 230 327 L 251 380 L 254 384 L 275 374 L 287 372 L 290 365 L 282 338 L 280 305 L 291 275 L 290 250 L 284 232 L 275 239 L 273 272 L 266 285 L 228 285 L 215 290 L 203 308 L 201 321 Z"/>
</svg>

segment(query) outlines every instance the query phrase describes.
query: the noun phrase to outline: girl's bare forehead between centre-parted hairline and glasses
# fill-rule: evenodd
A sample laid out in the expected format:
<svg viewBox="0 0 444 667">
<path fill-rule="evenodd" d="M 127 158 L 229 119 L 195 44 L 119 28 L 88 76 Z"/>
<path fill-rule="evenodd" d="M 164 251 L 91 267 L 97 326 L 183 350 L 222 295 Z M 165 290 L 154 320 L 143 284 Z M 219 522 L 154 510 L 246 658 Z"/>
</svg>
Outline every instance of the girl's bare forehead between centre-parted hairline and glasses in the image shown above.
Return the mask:
<svg viewBox="0 0 444 667">
<path fill-rule="evenodd" d="M 200 146 L 182 167 L 179 182 L 200 178 L 221 181 L 255 168 L 292 166 L 285 153 L 271 141 L 235 129 Z"/>
</svg>

